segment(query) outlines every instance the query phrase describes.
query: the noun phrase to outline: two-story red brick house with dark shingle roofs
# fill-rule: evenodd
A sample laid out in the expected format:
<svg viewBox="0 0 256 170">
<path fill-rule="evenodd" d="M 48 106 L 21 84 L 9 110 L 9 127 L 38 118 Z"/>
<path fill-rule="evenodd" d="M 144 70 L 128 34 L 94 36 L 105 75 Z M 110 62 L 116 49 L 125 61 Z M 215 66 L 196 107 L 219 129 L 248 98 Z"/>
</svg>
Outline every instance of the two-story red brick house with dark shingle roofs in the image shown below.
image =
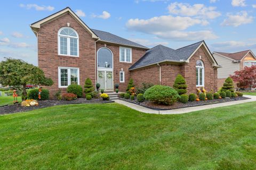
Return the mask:
<svg viewBox="0 0 256 170">
<path fill-rule="evenodd" d="M 125 91 L 130 78 L 139 86 L 153 82 L 172 86 L 175 76 L 185 77 L 188 90 L 217 90 L 217 69 L 204 41 L 177 50 L 148 47 L 109 32 L 89 28 L 69 8 L 30 25 L 38 40 L 38 66 L 54 84 L 51 96 L 66 92 L 69 84 L 84 86 L 90 78 L 105 91 L 119 84 Z"/>
</svg>

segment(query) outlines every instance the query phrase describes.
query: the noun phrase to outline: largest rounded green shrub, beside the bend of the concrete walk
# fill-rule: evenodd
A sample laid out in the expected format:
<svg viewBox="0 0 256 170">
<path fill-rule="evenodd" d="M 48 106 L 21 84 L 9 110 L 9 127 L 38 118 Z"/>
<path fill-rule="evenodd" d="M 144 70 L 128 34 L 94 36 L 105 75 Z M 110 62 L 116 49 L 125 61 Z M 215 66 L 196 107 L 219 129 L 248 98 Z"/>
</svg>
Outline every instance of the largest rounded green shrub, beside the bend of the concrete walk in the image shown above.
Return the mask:
<svg viewBox="0 0 256 170">
<path fill-rule="evenodd" d="M 180 98 L 180 95 L 169 86 L 155 85 L 145 91 L 144 97 L 157 104 L 172 105 Z"/>
</svg>

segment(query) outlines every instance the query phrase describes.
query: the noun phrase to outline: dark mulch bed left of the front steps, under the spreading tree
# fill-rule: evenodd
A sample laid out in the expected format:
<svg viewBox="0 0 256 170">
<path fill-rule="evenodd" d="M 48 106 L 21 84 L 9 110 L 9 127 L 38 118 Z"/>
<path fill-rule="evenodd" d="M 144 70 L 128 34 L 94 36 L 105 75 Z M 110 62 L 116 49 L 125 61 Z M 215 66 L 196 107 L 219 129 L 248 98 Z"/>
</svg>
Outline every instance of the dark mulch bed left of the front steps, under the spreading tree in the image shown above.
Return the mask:
<svg viewBox="0 0 256 170">
<path fill-rule="evenodd" d="M 10 114 L 10 113 L 17 113 L 17 112 L 26 112 L 32 111 L 39 108 L 45 108 L 50 106 L 57 106 L 57 105 L 67 105 L 67 104 L 103 104 L 103 103 L 113 103 L 114 101 L 111 100 L 102 100 L 102 99 L 92 99 L 86 100 L 86 98 L 78 98 L 72 101 L 66 100 L 39 100 L 38 106 L 29 106 L 29 107 L 22 107 L 21 104 L 15 105 L 7 105 L 0 107 L 0 114 Z"/>
</svg>

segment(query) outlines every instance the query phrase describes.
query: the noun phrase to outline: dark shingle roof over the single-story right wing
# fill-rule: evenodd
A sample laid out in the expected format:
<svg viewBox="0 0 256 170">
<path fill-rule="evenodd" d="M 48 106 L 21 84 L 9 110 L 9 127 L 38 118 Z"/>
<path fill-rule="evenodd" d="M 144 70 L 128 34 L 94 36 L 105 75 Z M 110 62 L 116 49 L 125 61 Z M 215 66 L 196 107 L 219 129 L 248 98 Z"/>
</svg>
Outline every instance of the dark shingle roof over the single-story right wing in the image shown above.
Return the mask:
<svg viewBox="0 0 256 170">
<path fill-rule="evenodd" d="M 196 50 L 196 48 L 202 43 L 203 41 L 199 41 L 198 43 L 191 44 L 189 46 L 182 47 L 176 50 L 169 47 L 165 47 L 163 45 L 155 46 L 147 50 L 146 54 L 143 55 L 140 58 L 140 60 L 138 60 L 130 67 L 130 70 L 163 61 L 186 61 L 189 58 L 189 56 Z"/>
</svg>

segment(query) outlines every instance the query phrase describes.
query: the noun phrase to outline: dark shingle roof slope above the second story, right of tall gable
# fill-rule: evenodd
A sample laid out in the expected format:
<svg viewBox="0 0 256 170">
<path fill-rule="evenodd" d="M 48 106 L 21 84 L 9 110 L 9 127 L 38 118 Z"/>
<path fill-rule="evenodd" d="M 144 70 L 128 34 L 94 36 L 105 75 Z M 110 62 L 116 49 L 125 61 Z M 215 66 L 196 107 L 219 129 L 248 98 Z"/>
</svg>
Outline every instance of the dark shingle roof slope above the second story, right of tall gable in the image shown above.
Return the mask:
<svg viewBox="0 0 256 170">
<path fill-rule="evenodd" d="M 138 43 L 134 43 L 133 41 L 124 39 L 122 37 L 116 36 L 112 33 L 105 32 L 105 31 L 100 31 L 100 30 L 95 30 L 91 29 L 102 41 L 108 41 L 110 43 L 115 43 L 115 44 L 123 44 L 127 46 L 132 46 L 132 47 L 140 47 L 140 48 L 146 48 L 148 47 L 142 46 Z"/>
</svg>

